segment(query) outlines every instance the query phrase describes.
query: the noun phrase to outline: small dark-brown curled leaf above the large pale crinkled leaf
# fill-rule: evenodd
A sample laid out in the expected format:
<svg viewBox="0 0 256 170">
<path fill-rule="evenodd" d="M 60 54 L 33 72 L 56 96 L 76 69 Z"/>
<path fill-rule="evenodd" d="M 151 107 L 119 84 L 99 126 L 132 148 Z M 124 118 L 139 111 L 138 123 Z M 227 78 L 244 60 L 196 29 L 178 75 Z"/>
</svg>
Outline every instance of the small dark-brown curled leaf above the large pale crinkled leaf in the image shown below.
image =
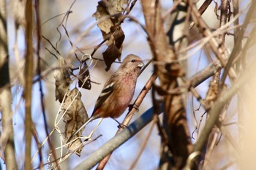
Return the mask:
<svg viewBox="0 0 256 170">
<path fill-rule="evenodd" d="M 78 86 L 80 88 L 91 89 L 91 78 L 89 69 L 86 63 L 83 64 L 83 68 L 79 71 Z"/>
</svg>

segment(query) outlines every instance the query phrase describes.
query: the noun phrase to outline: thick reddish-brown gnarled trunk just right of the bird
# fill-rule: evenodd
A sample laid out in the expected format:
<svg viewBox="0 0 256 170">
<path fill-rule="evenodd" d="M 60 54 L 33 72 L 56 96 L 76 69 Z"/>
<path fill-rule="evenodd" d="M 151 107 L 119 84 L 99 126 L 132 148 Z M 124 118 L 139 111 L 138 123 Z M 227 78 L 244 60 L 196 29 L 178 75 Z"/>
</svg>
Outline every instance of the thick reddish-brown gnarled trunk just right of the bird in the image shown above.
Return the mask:
<svg viewBox="0 0 256 170">
<path fill-rule="evenodd" d="M 168 142 L 166 144 L 166 142 L 162 141 L 159 169 L 181 169 L 186 164 L 187 157 L 192 150 L 187 126 L 186 109 L 181 94 L 171 95 L 165 92 L 178 87 L 178 77 L 184 76 L 184 70 L 182 69 L 181 63 L 172 63 L 178 58 L 178 55 L 176 55 L 167 41 L 159 1 L 142 0 L 141 3 L 146 20 L 146 28 L 151 39 L 154 40 L 149 42 L 154 55 L 154 61 L 159 63 L 154 66 L 154 69 L 159 76 L 161 90 L 164 92 L 165 112 L 163 116 L 163 128 L 168 136 Z M 175 24 L 173 22 L 173 26 Z M 176 31 L 176 29 L 174 30 Z M 176 32 L 172 34 L 176 34 Z M 181 30 L 177 34 L 183 36 L 184 32 Z M 174 40 L 176 41 L 177 39 Z M 183 44 L 179 40 L 177 40 L 179 44 L 177 44 L 177 49 Z"/>
</svg>

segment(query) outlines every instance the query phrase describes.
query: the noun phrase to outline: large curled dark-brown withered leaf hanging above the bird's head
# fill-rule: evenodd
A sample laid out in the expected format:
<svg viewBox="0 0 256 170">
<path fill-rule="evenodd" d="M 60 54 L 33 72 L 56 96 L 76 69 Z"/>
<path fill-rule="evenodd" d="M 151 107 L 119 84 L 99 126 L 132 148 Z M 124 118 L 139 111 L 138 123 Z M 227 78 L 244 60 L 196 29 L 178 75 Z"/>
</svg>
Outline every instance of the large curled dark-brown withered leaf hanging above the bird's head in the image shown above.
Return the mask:
<svg viewBox="0 0 256 170">
<path fill-rule="evenodd" d="M 98 27 L 102 31 L 106 45 L 108 45 L 108 48 L 102 53 L 107 66 L 106 71 L 110 69 L 111 64 L 116 61 L 116 58 L 120 61 L 121 48 L 125 36 L 119 21 L 122 20 L 122 12 L 124 12 L 124 6 L 127 4 L 127 0 L 99 1 L 97 11 L 93 15 L 96 20 L 105 18 L 99 22 Z M 109 15 L 112 17 L 109 18 Z"/>
</svg>

